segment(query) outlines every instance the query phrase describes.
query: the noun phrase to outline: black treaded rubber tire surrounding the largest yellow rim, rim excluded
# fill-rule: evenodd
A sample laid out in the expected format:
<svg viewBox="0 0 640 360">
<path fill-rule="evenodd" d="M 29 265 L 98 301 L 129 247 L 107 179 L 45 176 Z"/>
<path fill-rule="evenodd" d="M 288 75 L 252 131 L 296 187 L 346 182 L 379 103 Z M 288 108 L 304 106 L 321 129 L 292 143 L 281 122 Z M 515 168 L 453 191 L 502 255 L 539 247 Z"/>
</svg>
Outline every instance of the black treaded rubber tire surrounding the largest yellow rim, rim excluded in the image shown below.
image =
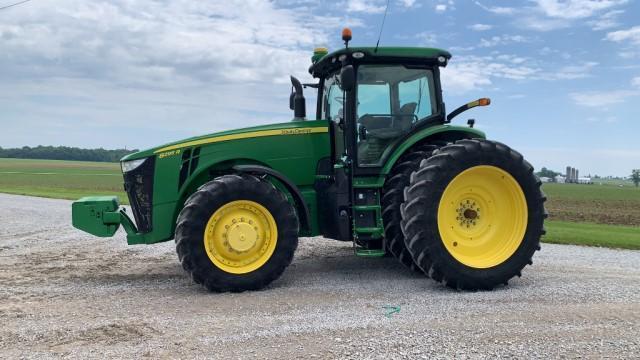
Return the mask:
<svg viewBox="0 0 640 360">
<path fill-rule="evenodd" d="M 465 148 L 465 144 L 470 142 L 480 146 L 480 149 L 473 151 Z M 445 248 L 438 230 L 438 207 L 446 187 L 461 172 L 481 165 L 495 166 L 511 174 L 524 193 L 528 210 L 527 228 L 521 244 L 509 259 L 490 268 L 473 268 L 459 262 Z M 433 168 L 427 171 L 428 186 L 420 189 L 425 199 L 421 204 L 424 210 L 418 221 L 422 229 L 416 230 L 417 224 L 413 224 L 412 229 L 404 229 L 409 251 L 418 266 L 426 273 L 431 272 L 430 275 L 436 280 L 459 288 L 490 289 L 520 275 L 522 268 L 531 263 L 534 252 L 539 249 L 545 217 L 542 205 L 544 196 L 531 165 L 519 153 L 503 144 L 467 140 L 441 149 L 434 157 L 425 160 L 421 168 L 429 166 Z M 414 173 L 413 176 L 419 175 Z M 421 240 L 417 241 L 416 237 Z"/>
</svg>

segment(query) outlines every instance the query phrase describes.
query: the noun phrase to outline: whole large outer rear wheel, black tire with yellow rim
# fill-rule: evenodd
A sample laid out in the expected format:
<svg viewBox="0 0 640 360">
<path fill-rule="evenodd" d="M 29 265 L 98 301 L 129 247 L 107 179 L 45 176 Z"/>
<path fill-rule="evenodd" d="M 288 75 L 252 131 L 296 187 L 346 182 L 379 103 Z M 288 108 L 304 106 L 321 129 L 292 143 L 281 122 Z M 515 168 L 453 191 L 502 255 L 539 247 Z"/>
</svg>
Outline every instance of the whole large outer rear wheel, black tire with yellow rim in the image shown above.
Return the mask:
<svg viewBox="0 0 640 360">
<path fill-rule="evenodd" d="M 405 190 L 401 226 L 408 251 L 449 287 L 506 285 L 540 249 L 546 218 L 540 185 L 533 167 L 504 144 L 445 146 L 422 161 Z"/>
</svg>

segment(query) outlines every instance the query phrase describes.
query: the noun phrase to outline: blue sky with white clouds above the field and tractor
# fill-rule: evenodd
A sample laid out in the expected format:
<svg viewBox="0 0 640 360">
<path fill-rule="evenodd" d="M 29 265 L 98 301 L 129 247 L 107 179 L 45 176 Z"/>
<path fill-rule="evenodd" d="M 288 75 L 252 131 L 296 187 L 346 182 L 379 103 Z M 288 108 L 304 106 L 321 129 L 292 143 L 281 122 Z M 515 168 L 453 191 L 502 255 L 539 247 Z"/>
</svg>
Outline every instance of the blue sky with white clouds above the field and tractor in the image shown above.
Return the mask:
<svg viewBox="0 0 640 360">
<path fill-rule="evenodd" d="M 0 0 L 0 6 L 13 1 Z M 0 146 L 145 148 L 287 121 L 315 46 L 377 39 L 386 0 L 32 0 L 0 11 Z M 537 168 L 640 167 L 640 4 L 390 0 L 381 46 L 453 53 L 449 110 Z M 308 104 L 312 109 L 313 104 Z"/>
</svg>

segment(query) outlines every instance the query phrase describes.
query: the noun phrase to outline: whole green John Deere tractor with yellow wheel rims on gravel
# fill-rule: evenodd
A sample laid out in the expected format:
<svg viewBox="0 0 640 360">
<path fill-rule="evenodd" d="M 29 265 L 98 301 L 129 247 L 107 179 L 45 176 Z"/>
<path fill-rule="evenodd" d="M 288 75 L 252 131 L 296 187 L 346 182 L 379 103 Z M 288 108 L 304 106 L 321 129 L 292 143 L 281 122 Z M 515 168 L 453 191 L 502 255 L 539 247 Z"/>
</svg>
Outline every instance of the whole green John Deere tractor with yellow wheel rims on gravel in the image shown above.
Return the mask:
<svg viewBox="0 0 640 360">
<path fill-rule="evenodd" d="M 257 290 L 291 263 L 299 236 L 390 254 L 456 289 L 520 276 L 544 234 L 532 166 L 483 132 L 451 125 L 480 99 L 445 112 L 434 48 L 316 49 L 316 83 L 291 77 L 293 121 L 219 132 L 122 159 L 134 221 L 115 197 L 72 205 L 73 225 L 128 244 L 175 239 L 210 291 Z M 306 118 L 303 89 L 317 91 Z"/>
</svg>

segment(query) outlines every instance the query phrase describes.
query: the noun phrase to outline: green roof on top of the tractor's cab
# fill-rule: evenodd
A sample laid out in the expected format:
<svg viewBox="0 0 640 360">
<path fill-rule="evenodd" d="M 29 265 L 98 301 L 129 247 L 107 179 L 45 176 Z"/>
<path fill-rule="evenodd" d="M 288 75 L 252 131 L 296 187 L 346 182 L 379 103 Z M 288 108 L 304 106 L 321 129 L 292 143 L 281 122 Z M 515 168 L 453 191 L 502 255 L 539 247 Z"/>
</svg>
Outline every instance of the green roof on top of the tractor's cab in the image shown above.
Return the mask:
<svg viewBox="0 0 640 360">
<path fill-rule="evenodd" d="M 364 57 L 361 59 L 367 62 L 427 60 L 440 66 L 446 66 L 447 61 L 451 58 L 451 53 L 436 48 L 379 47 L 376 50 L 375 47 L 349 47 L 334 51 L 318 59 L 309 68 L 309 73 L 318 77 L 333 71 L 341 65 L 339 61 L 341 55 L 350 56 L 355 52 L 363 53 Z M 442 58 L 444 58 L 444 61 L 441 61 Z"/>
</svg>

